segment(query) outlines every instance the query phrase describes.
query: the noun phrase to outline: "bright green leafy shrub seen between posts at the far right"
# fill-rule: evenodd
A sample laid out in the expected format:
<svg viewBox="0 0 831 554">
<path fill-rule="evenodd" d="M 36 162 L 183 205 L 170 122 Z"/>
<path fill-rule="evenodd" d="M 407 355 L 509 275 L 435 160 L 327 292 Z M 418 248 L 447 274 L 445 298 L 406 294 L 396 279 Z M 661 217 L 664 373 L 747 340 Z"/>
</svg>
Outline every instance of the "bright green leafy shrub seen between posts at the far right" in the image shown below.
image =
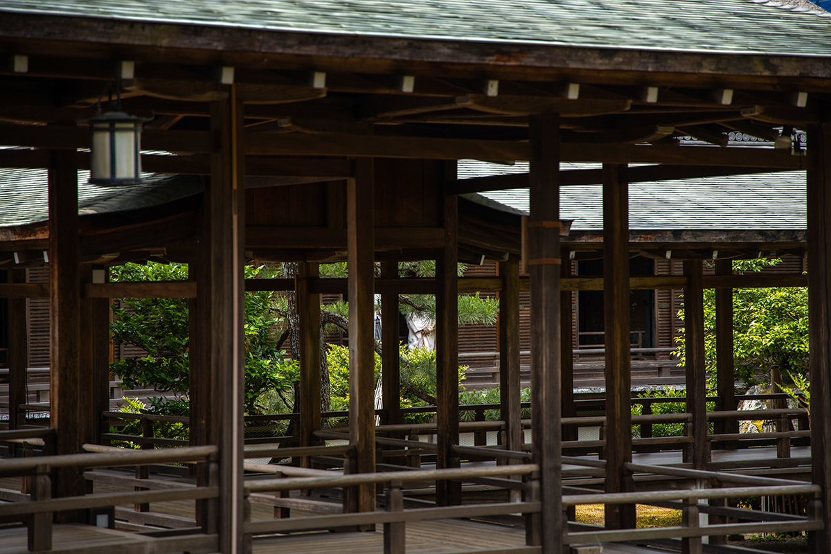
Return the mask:
<svg viewBox="0 0 831 554">
<path fill-rule="evenodd" d="M 733 262 L 738 272 L 758 272 L 781 260 Z M 715 374 L 715 291 L 704 291 L 707 370 Z M 679 313 L 683 318 L 683 311 Z M 760 382 L 771 365 L 786 375 L 808 371 L 808 289 L 805 287 L 742 288 L 733 291 L 735 375 L 745 385 Z M 684 338 L 677 340 L 683 361 Z M 761 370 L 761 371 L 760 371 Z"/>
</svg>

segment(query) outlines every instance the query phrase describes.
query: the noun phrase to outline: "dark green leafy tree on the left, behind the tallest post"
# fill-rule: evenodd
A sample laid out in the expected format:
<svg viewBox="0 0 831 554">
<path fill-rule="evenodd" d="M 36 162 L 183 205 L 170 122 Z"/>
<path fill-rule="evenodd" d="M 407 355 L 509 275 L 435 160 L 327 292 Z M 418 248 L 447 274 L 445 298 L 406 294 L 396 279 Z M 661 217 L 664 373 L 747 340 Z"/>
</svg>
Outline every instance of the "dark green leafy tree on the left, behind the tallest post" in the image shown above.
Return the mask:
<svg viewBox="0 0 831 554">
<path fill-rule="evenodd" d="M 245 277 L 256 277 L 263 267 L 245 267 Z M 184 264 L 128 263 L 114 267 L 111 279 L 125 281 L 172 281 L 188 277 Z M 128 389 L 152 388 L 172 392 L 186 401 L 189 380 L 188 302 L 182 298 L 125 298 L 126 310 L 114 311 L 113 341 L 137 346 L 147 352 L 112 364 L 111 369 Z M 261 410 L 258 398 L 267 390 L 290 390 L 297 380 L 297 364 L 278 351 L 273 327 L 278 323 L 271 292 L 245 295 L 245 411 Z M 170 400 L 154 400 L 156 408 Z"/>
</svg>

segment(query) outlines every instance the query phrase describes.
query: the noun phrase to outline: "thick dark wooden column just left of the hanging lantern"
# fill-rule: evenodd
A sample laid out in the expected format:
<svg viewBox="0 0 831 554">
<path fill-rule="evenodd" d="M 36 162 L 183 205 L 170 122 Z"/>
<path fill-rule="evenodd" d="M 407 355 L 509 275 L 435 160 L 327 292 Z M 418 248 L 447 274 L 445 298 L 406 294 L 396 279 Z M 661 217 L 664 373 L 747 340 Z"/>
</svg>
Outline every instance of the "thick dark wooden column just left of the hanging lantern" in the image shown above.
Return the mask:
<svg viewBox="0 0 831 554">
<path fill-rule="evenodd" d="M 81 281 L 78 257 L 78 169 L 74 150 L 55 150 L 49 168 L 50 424 L 57 453 L 81 452 L 92 422 L 81 414 Z M 57 496 L 85 490 L 82 470 L 57 470 Z M 69 517 L 72 518 L 72 517 Z"/>
</svg>

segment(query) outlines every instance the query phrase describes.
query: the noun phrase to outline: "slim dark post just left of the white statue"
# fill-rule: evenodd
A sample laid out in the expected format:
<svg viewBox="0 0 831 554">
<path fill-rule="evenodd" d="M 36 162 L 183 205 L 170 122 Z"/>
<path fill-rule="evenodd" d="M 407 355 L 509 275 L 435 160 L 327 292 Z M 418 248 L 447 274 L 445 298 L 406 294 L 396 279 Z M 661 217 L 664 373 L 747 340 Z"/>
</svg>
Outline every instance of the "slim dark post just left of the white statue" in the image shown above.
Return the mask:
<svg viewBox="0 0 831 554">
<path fill-rule="evenodd" d="M 398 278 L 398 262 L 381 262 L 381 277 Z M 399 367 L 398 293 L 381 295 L 381 395 L 386 424 L 401 423 L 401 368 Z"/>
</svg>

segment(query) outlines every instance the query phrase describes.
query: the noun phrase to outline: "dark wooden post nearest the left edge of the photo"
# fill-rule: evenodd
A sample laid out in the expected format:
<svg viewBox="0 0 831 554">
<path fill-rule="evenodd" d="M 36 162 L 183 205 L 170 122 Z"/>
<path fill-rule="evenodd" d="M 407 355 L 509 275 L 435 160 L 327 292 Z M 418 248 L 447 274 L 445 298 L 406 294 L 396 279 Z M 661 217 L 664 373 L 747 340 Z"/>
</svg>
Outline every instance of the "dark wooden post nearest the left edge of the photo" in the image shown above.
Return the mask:
<svg viewBox="0 0 831 554">
<path fill-rule="evenodd" d="M 9 270 L 8 277 L 9 282 L 26 282 L 26 270 Z M 29 365 L 26 298 L 9 298 L 8 316 L 8 428 L 17 429 L 26 424 L 26 412 L 20 410 L 20 404 L 26 403 Z"/>
</svg>

